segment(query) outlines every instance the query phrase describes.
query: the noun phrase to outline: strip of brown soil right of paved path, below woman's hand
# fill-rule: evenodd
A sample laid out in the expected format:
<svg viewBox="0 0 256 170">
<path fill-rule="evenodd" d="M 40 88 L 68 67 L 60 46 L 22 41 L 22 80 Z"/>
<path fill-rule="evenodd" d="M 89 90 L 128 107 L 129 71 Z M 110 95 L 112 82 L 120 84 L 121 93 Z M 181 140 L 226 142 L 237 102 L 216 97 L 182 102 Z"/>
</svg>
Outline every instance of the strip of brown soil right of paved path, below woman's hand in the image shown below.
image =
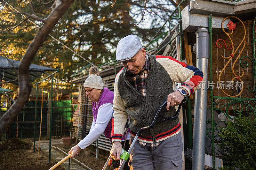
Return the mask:
<svg viewBox="0 0 256 170">
<path fill-rule="evenodd" d="M 65 151 L 67 153 L 71 149 L 71 148 L 68 148 L 68 149 L 64 148 L 62 144 L 53 145 L 53 146 L 56 146 L 60 148 L 62 151 Z M 75 158 L 80 162 L 82 162 L 84 165 L 89 166 L 93 170 L 101 170 L 107 161 L 106 159 L 103 159 L 103 158 L 98 158 L 97 160 L 95 159 L 95 155 L 93 154 L 85 155 L 83 151 L 81 151 L 80 154 L 77 155 Z M 109 170 L 113 170 L 113 169 L 114 169 L 113 166 L 109 167 Z"/>
</svg>

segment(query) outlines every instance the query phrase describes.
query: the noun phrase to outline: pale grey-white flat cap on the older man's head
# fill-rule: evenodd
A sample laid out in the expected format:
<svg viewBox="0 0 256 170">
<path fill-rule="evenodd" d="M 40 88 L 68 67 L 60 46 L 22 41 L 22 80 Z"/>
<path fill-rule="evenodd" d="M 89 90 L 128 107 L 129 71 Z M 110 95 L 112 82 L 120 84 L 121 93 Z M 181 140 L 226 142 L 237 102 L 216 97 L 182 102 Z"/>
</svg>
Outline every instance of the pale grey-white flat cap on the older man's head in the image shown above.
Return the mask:
<svg viewBox="0 0 256 170">
<path fill-rule="evenodd" d="M 130 60 L 142 48 L 137 35 L 128 35 L 122 38 L 116 47 L 116 61 Z"/>
</svg>

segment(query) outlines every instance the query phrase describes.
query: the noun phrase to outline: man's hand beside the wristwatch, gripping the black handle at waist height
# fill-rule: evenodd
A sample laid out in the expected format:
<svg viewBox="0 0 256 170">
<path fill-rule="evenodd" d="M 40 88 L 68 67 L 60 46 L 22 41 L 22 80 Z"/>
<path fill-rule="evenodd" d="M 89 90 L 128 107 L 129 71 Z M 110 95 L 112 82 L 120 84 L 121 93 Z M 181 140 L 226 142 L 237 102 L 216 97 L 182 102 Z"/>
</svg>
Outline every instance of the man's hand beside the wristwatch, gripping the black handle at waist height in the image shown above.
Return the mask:
<svg viewBox="0 0 256 170">
<path fill-rule="evenodd" d="M 181 89 L 184 89 L 184 88 L 181 88 Z M 187 90 L 186 90 L 186 92 L 188 94 Z M 177 90 L 170 93 L 167 97 L 166 109 L 169 110 L 170 107 L 179 105 L 183 99 L 184 99 L 184 96 L 182 94 L 180 94 L 180 92 Z M 174 103 L 176 103 L 176 104 L 174 104 Z"/>
</svg>

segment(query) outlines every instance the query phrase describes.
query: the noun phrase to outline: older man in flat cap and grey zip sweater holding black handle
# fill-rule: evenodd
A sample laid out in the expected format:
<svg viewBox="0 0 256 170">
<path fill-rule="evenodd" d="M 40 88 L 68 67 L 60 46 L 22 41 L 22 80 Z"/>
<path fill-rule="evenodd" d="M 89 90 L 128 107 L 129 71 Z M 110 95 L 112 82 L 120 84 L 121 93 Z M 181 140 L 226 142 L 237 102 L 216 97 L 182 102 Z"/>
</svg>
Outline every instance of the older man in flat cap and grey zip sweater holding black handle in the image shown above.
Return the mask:
<svg viewBox="0 0 256 170">
<path fill-rule="evenodd" d="M 166 116 L 175 105 L 198 89 L 203 72 L 171 56 L 149 55 L 136 35 L 118 42 L 116 60 L 124 68 L 116 75 L 114 88 L 111 155 L 120 159 L 121 139 L 129 117 L 130 144 L 138 130 L 150 125 L 158 107 L 167 99 Z M 182 83 L 175 90 L 175 82 Z M 130 154 L 130 169 L 182 169 L 182 140 L 179 119 L 167 120 L 143 131 Z"/>
</svg>

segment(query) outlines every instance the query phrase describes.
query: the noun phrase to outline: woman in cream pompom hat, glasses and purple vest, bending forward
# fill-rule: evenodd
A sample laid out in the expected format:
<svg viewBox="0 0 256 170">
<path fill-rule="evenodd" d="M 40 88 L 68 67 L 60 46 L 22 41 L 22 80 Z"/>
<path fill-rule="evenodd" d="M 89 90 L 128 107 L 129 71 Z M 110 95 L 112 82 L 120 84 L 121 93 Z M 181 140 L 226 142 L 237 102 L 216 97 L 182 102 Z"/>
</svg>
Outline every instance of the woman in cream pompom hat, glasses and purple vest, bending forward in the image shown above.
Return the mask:
<svg viewBox="0 0 256 170">
<path fill-rule="evenodd" d="M 89 69 L 89 76 L 84 81 L 84 92 L 92 101 L 93 121 L 89 134 L 68 152 L 71 153 L 73 151 L 71 158 L 78 155 L 82 149 L 92 144 L 101 134 L 104 134 L 112 141 L 111 118 L 113 113 L 114 92 L 104 87 L 102 78 L 100 77 L 100 71 L 97 67 L 91 67 Z M 126 139 L 129 140 L 130 134 L 126 136 Z M 127 165 L 127 167 L 129 166 Z"/>
</svg>

